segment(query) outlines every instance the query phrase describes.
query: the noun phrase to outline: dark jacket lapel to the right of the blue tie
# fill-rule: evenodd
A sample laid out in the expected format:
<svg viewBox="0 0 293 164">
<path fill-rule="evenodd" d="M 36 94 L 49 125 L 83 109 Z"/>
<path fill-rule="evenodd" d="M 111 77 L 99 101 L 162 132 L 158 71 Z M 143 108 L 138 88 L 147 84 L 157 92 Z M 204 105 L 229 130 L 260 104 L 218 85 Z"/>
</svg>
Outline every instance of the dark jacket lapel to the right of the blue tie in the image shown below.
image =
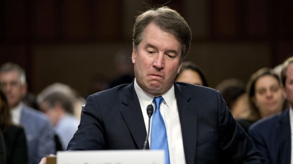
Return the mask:
<svg viewBox="0 0 293 164">
<path fill-rule="evenodd" d="M 181 124 L 183 147 L 186 163 L 194 163 L 196 130 L 197 130 L 197 107 L 190 107 L 190 96 L 183 92 L 179 85 L 174 83 L 178 113 Z M 184 94 L 185 93 L 185 94 Z"/>
</svg>

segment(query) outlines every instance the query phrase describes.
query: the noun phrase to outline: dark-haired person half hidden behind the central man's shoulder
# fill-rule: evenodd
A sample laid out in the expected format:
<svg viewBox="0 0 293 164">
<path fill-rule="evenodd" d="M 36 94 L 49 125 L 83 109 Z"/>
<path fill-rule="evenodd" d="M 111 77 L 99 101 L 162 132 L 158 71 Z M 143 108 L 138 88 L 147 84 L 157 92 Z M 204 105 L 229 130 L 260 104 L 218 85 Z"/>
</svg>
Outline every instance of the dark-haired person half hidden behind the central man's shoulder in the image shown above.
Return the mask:
<svg viewBox="0 0 293 164">
<path fill-rule="evenodd" d="M 199 86 L 207 87 L 207 80 L 202 73 L 202 69 L 193 62 L 182 62 L 180 72 L 175 81 L 185 82 Z"/>
</svg>

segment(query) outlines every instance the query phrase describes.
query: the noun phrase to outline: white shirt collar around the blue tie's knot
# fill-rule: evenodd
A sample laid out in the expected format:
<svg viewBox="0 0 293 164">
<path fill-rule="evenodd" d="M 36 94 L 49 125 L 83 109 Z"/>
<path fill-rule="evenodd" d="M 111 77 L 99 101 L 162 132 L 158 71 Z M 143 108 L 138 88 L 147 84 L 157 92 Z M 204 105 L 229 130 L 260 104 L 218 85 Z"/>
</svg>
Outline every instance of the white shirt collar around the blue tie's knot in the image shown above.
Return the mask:
<svg viewBox="0 0 293 164">
<path fill-rule="evenodd" d="M 149 93 L 145 92 L 144 90 L 142 90 L 142 88 L 140 88 L 136 82 L 136 78 L 134 78 L 134 90 L 137 94 L 137 97 L 139 100 L 144 100 L 144 101 L 148 101 L 150 102 L 149 104 L 151 104 L 151 102 L 154 99 L 154 95 L 150 95 Z M 174 85 L 172 85 L 172 87 L 167 90 L 165 93 L 158 95 L 158 96 L 162 96 L 167 104 L 167 106 L 169 107 L 169 109 L 171 111 L 174 111 L 174 102 L 176 101 L 176 97 L 175 97 L 175 90 L 174 90 Z M 158 97 L 156 96 L 156 97 Z"/>
</svg>

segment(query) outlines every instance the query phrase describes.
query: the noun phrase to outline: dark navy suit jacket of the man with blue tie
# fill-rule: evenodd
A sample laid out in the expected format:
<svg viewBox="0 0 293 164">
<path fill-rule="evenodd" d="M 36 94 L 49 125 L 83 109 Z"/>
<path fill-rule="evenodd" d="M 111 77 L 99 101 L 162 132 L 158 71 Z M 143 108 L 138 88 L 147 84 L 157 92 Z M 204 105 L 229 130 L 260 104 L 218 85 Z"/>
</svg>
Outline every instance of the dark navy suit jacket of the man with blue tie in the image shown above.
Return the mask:
<svg viewBox="0 0 293 164">
<path fill-rule="evenodd" d="M 174 88 L 187 164 L 264 162 L 219 91 L 187 83 Z M 88 97 L 67 150 L 143 149 L 146 135 L 132 82 Z"/>
</svg>

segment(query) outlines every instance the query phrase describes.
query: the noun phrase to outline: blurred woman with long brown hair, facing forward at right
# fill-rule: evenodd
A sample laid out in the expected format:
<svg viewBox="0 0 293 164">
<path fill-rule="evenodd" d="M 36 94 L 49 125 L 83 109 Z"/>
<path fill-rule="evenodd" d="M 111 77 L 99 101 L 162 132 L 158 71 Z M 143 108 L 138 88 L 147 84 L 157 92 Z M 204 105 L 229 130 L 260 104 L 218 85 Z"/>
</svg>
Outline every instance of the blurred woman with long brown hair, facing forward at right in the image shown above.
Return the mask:
<svg viewBox="0 0 293 164">
<path fill-rule="evenodd" d="M 255 72 L 247 84 L 249 112 L 238 123 L 244 128 L 261 118 L 276 114 L 283 109 L 284 98 L 282 95 L 279 77 L 270 68 L 262 68 Z"/>
</svg>

